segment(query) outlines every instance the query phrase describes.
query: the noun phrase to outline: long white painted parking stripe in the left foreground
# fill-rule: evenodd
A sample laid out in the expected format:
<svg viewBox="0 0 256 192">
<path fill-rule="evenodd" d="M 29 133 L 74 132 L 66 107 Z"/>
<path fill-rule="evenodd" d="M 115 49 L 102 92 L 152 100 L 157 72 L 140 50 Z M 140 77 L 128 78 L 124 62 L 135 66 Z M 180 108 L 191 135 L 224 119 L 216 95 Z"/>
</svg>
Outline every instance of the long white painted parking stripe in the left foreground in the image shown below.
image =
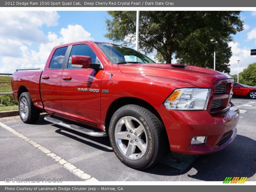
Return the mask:
<svg viewBox="0 0 256 192">
<path fill-rule="evenodd" d="M 49 149 L 43 147 L 42 145 L 38 144 L 34 140 L 29 139 L 25 135 L 15 131 L 11 127 L 8 127 L 7 125 L 3 124 L 2 122 L 0 122 L 0 126 L 3 127 L 4 129 L 8 130 L 9 132 L 13 133 L 14 135 L 20 137 L 24 141 L 27 141 L 32 146 L 34 146 L 35 148 L 39 149 L 41 152 L 46 154 L 46 156 L 50 157 L 54 161 L 58 162 L 65 169 L 67 169 L 71 173 L 75 174 L 77 177 L 79 177 L 79 178 L 81 178 L 85 181 L 97 181 L 97 179 L 93 178 L 91 175 L 88 175 L 84 171 L 78 169 L 75 165 L 73 165 L 71 163 L 68 163 L 65 159 L 63 159 L 60 156 L 57 156 L 56 154 L 52 153 Z"/>
</svg>

